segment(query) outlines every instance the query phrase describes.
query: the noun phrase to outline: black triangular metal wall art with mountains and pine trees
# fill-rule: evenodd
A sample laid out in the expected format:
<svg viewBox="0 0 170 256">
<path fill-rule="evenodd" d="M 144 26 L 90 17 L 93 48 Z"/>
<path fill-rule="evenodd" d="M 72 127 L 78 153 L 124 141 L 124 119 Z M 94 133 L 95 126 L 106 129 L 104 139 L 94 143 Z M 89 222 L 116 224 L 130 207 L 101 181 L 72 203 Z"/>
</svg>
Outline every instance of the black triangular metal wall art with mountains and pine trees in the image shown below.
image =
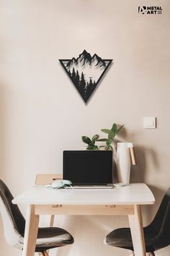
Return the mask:
<svg viewBox="0 0 170 256">
<path fill-rule="evenodd" d="M 97 54 L 91 56 L 86 50 L 79 54 L 78 58 L 59 61 L 85 103 L 112 63 L 112 59 L 102 59 Z"/>
</svg>

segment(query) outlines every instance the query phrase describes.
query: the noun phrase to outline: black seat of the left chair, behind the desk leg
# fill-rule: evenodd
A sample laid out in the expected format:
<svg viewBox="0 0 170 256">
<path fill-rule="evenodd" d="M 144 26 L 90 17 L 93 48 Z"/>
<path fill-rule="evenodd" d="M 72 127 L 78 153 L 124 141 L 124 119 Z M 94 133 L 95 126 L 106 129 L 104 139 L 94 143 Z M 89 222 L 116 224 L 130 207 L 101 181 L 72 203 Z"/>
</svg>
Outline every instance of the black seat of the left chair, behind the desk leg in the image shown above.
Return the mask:
<svg viewBox="0 0 170 256">
<path fill-rule="evenodd" d="M 23 247 L 24 239 L 20 238 L 19 245 Z M 48 249 L 73 244 L 73 236 L 66 230 L 60 228 L 39 228 L 35 252 L 44 252 Z"/>
</svg>

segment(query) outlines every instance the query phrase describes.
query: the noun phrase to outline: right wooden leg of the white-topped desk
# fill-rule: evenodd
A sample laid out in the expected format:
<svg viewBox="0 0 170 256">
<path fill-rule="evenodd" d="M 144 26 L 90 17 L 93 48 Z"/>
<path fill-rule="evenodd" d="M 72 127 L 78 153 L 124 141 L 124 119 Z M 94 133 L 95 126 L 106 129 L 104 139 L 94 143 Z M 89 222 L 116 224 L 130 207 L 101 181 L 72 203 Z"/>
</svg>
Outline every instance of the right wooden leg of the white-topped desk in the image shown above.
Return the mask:
<svg viewBox="0 0 170 256">
<path fill-rule="evenodd" d="M 129 223 L 133 238 L 135 256 L 146 256 L 146 245 L 143 234 L 143 222 L 140 205 L 134 205 L 134 214 L 129 215 Z"/>
</svg>

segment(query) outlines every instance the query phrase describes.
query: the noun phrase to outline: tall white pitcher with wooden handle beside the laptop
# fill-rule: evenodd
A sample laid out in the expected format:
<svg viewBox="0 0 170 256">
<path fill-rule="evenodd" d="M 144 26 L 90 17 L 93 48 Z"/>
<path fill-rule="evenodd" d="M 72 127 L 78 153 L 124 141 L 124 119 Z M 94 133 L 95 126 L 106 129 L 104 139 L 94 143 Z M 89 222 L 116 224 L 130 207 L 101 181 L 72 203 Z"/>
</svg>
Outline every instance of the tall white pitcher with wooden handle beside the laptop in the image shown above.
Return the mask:
<svg viewBox="0 0 170 256">
<path fill-rule="evenodd" d="M 135 155 L 133 151 L 133 143 L 118 142 L 116 154 L 116 167 L 118 182 L 128 185 L 130 183 L 130 166 L 131 160 L 135 164 Z"/>
</svg>

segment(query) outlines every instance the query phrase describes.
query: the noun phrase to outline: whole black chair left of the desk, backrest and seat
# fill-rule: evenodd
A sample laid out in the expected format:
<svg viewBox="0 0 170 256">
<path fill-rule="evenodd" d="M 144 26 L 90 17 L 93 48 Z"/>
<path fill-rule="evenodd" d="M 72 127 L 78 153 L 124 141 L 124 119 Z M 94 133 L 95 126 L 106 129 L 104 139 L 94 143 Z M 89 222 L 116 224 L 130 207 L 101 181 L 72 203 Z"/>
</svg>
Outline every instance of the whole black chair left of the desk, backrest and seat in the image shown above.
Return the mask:
<svg viewBox="0 0 170 256">
<path fill-rule="evenodd" d="M 23 249 L 25 220 L 18 206 L 12 204 L 13 198 L 6 184 L 0 180 L 0 212 L 4 236 L 8 244 Z M 67 244 L 73 244 L 73 236 L 66 230 L 55 227 L 39 228 L 35 252 L 48 256 L 48 249 Z"/>
</svg>

